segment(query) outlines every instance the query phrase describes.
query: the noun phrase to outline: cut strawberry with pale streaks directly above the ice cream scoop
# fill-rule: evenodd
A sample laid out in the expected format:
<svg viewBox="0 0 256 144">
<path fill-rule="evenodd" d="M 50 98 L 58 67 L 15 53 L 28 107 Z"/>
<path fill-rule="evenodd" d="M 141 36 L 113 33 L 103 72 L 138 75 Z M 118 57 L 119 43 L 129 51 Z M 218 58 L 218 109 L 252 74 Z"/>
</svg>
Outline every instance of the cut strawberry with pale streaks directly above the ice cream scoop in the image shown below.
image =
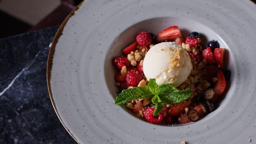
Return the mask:
<svg viewBox="0 0 256 144">
<path fill-rule="evenodd" d="M 162 42 L 164 40 L 175 40 L 176 38 L 182 37 L 182 34 L 180 32 L 180 29 L 178 26 L 170 26 L 169 28 L 166 28 L 162 32 L 160 32 L 156 36 L 156 40 L 158 42 Z"/>
</svg>

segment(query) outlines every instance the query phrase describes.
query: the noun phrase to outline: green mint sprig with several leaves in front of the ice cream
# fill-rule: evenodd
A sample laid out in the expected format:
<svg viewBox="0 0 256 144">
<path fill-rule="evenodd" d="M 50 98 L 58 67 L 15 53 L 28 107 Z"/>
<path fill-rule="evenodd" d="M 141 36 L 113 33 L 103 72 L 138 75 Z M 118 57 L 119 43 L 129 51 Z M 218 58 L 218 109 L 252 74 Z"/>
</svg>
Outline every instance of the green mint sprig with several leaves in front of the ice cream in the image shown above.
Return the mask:
<svg viewBox="0 0 256 144">
<path fill-rule="evenodd" d="M 137 98 L 152 98 L 155 104 L 153 115 L 158 115 L 165 104 L 175 104 L 186 100 L 192 93 L 190 88 L 186 90 L 177 90 L 169 84 L 158 85 L 156 79 L 150 79 L 148 85 L 142 87 L 129 88 L 121 92 L 117 97 L 115 104 L 124 104 Z"/>
</svg>

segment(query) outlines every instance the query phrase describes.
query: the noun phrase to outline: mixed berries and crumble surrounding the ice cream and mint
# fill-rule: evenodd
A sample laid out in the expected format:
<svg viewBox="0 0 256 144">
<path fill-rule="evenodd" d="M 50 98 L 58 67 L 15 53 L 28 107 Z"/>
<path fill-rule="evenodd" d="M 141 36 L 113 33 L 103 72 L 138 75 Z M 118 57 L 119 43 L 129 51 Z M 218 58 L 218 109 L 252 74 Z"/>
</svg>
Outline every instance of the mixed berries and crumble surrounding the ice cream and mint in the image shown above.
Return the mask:
<svg viewBox="0 0 256 144">
<path fill-rule="evenodd" d="M 214 110 L 214 103 L 222 97 L 231 74 L 224 65 L 226 50 L 220 48 L 216 40 L 202 46 L 200 33 L 191 32 L 184 37 L 178 26 L 170 26 L 156 36 L 142 31 L 132 44 L 122 49 L 122 56 L 113 59 L 118 70 L 115 75 L 116 86 L 120 91 L 146 86 L 148 80 L 143 72 L 144 56 L 154 44 L 169 41 L 182 45 L 190 56 L 193 69 L 187 80 L 176 88 L 191 88 L 191 96 L 176 104 L 166 104 L 156 116 L 153 116 L 155 106 L 151 98 L 134 99 L 126 102 L 125 106 L 140 118 L 154 124 L 196 122 Z"/>
</svg>

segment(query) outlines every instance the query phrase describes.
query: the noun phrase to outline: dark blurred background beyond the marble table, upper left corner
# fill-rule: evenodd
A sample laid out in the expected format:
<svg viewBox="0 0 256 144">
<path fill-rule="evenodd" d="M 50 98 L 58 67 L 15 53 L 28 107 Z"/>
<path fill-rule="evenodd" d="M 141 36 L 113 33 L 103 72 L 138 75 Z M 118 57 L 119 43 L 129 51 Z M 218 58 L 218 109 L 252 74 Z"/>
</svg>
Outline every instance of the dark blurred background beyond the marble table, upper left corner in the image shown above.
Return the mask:
<svg viewBox="0 0 256 144">
<path fill-rule="evenodd" d="M 83 0 L 0 0 L 0 38 L 60 25 Z"/>
</svg>

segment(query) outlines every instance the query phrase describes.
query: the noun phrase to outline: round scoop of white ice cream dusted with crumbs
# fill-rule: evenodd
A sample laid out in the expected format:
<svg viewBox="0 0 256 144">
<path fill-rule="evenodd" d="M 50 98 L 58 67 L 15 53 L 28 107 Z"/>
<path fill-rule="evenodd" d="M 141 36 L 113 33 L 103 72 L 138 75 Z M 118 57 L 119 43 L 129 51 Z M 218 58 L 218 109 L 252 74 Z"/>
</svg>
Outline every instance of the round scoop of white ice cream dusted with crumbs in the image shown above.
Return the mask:
<svg viewBox="0 0 256 144">
<path fill-rule="evenodd" d="M 154 45 L 146 54 L 143 71 L 146 78 L 155 78 L 156 83 L 179 86 L 192 70 L 188 52 L 175 42 L 162 42 Z"/>
</svg>

